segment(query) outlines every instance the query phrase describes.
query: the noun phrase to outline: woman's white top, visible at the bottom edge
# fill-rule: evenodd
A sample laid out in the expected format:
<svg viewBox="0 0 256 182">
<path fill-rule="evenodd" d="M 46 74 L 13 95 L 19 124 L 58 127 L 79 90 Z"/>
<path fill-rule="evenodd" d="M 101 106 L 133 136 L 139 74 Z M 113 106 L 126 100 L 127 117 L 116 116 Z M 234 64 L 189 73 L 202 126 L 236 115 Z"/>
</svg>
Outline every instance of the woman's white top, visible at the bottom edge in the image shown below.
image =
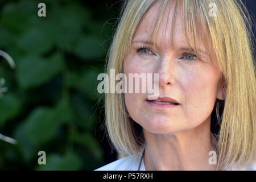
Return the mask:
<svg viewBox="0 0 256 182">
<path fill-rule="evenodd" d="M 140 159 L 135 155 L 130 155 L 122 159 L 115 160 L 110 164 L 106 164 L 95 171 L 138 171 Z M 144 158 L 142 159 L 141 168 L 139 171 L 146 171 L 144 166 Z M 256 171 L 256 162 L 249 168 L 232 168 L 228 171 Z"/>
</svg>

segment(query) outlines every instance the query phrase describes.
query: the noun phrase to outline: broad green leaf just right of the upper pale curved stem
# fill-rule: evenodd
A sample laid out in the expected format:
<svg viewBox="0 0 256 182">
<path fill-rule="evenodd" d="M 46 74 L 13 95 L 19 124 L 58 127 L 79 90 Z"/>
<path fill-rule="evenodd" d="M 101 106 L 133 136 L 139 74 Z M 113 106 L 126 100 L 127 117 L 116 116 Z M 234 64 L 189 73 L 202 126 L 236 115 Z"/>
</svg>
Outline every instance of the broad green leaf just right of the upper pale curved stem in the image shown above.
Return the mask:
<svg viewBox="0 0 256 182">
<path fill-rule="evenodd" d="M 63 57 L 55 54 L 49 60 L 27 56 L 17 61 L 16 79 L 23 89 L 44 84 L 63 68 Z"/>
</svg>

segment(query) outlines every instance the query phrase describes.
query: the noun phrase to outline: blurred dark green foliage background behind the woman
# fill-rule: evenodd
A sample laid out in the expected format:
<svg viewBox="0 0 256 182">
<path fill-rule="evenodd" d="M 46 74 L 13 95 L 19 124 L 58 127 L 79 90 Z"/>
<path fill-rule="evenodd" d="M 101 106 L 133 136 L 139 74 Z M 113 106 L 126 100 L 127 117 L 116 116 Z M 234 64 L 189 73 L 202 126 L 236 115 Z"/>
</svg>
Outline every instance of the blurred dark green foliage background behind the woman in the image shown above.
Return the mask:
<svg viewBox="0 0 256 182">
<path fill-rule="evenodd" d="M 117 159 L 102 127 L 97 76 L 122 3 L 0 1 L 0 50 L 15 62 L 0 57 L 0 138 L 16 141 L 0 140 L 1 170 L 93 170 Z M 255 13 L 255 1 L 246 5 Z"/>
</svg>

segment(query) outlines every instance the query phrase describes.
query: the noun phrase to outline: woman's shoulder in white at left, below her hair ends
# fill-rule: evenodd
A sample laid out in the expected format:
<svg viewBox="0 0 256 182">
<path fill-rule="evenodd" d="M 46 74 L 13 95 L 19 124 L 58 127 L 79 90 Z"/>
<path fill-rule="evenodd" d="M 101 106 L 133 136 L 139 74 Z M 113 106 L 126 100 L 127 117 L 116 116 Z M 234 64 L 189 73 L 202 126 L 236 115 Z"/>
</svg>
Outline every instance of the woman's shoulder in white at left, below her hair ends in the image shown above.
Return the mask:
<svg viewBox="0 0 256 182">
<path fill-rule="evenodd" d="M 94 171 L 137 171 L 138 167 L 139 158 L 136 155 L 129 155 L 95 169 Z"/>
</svg>

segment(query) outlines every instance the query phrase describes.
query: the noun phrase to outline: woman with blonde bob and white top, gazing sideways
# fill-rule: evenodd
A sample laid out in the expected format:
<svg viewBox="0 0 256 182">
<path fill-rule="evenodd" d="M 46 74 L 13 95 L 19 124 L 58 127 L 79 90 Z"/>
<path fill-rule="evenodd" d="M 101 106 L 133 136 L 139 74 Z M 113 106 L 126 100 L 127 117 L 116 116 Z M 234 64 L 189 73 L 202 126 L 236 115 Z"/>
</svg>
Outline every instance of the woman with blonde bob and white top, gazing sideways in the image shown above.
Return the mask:
<svg viewBox="0 0 256 182">
<path fill-rule="evenodd" d="M 128 156 L 97 170 L 254 170 L 250 27 L 238 0 L 128 1 L 107 73 L 158 73 L 159 97 L 106 94 L 109 137 Z"/>
</svg>

